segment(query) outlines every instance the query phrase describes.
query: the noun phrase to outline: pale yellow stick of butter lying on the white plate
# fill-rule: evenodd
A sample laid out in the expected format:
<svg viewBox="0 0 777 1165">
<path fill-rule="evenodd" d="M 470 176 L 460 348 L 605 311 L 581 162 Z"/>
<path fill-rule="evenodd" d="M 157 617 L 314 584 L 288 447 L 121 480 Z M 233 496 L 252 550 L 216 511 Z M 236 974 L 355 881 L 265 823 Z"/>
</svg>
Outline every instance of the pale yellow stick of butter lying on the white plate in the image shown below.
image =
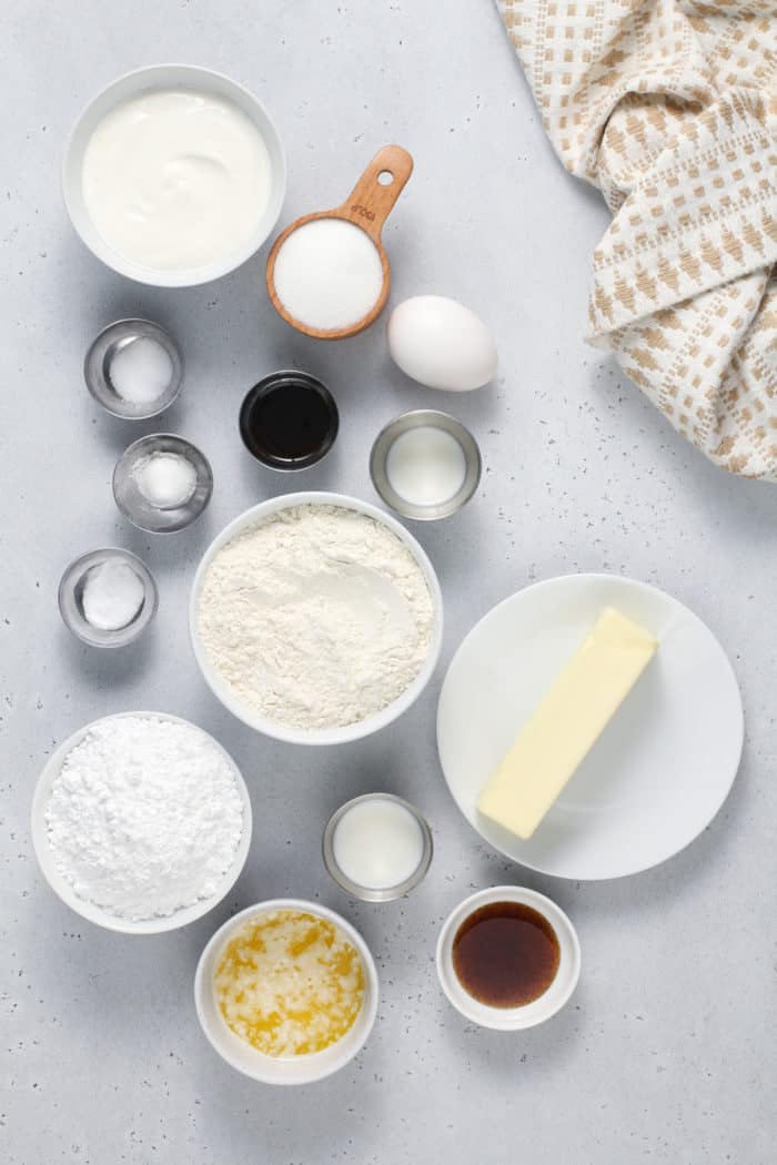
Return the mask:
<svg viewBox="0 0 777 1165">
<path fill-rule="evenodd" d="M 657 647 L 620 610 L 602 610 L 481 792 L 480 812 L 530 838 Z"/>
</svg>

